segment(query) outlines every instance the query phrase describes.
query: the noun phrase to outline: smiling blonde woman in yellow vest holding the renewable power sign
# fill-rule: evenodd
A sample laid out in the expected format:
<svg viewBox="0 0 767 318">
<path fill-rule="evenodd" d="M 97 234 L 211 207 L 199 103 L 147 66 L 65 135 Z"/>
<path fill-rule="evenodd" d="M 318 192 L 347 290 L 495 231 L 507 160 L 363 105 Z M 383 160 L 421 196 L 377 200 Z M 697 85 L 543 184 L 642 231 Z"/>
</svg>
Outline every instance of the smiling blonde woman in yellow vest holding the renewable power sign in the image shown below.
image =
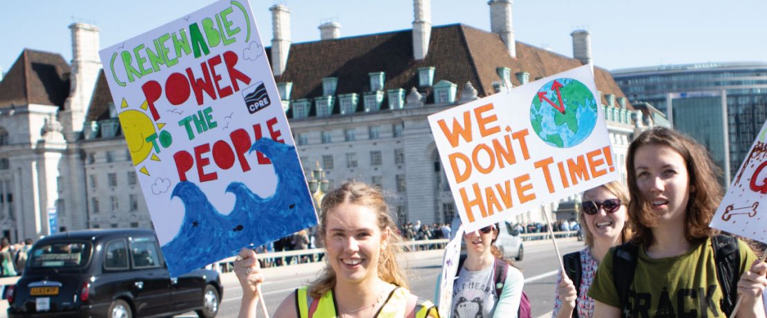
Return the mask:
<svg viewBox="0 0 767 318">
<path fill-rule="evenodd" d="M 328 266 L 311 285 L 285 297 L 275 317 L 436 317 L 436 307 L 407 290 L 397 265 L 402 237 L 374 187 L 346 183 L 322 199 L 318 236 Z M 235 273 L 242 285 L 240 317 L 254 317 L 262 282 L 252 250 L 242 249 Z"/>
</svg>

